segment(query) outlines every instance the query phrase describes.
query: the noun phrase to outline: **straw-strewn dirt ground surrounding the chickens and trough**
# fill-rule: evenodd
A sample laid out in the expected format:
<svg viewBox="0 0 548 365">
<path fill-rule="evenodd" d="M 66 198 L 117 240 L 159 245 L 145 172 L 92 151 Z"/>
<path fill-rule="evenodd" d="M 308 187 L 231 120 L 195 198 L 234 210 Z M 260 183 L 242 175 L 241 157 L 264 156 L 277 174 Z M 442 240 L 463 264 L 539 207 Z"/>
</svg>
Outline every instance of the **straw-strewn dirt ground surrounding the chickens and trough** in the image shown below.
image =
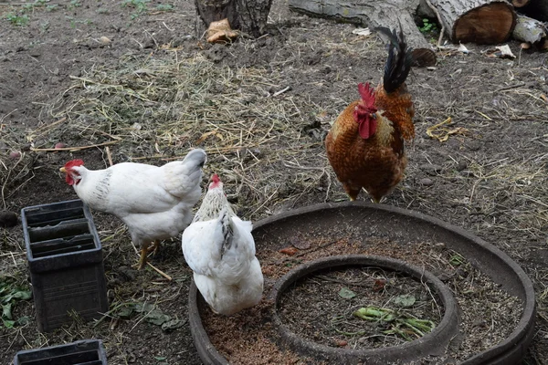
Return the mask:
<svg viewBox="0 0 548 365">
<path fill-rule="evenodd" d="M 58 172 L 73 158 L 90 168 L 110 159 L 163 164 L 195 146 L 208 152 L 206 177 L 227 177 L 228 197 L 247 219 L 346 199 L 322 140 L 357 99 L 357 83 L 381 78 L 385 48 L 375 36 L 292 14 L 283 0 L 274 0 L 268 35 L 229 46 L 205 43 L 192 2 L 0 2 L 0 17 L 2 209 L 74 199 Z M 406 179 L 383 203 L 463 227 L 520 264 L 538 302 L 524 363 L 547 364 L 547 55 L 509 45 L 515 59 L 467 45 L 468 54 L 442 50 L 436 68 L 412 71 L 416 139 Z M 449 117 L 433 130 L 447 141 L 427 134 Z M 49 150 L 59 142 L 73 149 Z M 94 217 L 111 318 L 40 334 L 32 300 L 20 301 L 14 317 L 31 320 L 1 328 L 2 362 L 20 349 L 98 338 L 111 364 L 199 364 L 180 240 L 152 260 L 167 281 L 132 269 L 123 225 Z M 0 274 L 28 286 L 24 246 L 20 224 L 2 229 Z M 172 325 L 145 317 L 146 303 Z"/>
</svg>

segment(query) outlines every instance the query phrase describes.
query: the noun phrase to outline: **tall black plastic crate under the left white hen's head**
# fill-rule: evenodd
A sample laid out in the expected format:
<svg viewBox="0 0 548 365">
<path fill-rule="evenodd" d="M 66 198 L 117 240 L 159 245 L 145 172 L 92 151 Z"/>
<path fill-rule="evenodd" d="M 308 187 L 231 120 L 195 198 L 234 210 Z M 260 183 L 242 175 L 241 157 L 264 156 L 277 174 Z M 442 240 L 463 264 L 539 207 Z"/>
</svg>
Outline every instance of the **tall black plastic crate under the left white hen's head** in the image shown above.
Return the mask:
<svg viewBox="0 0 548 365">
<path fill-rule="evenodd" d="M 81 200 L 23 208 L 21 222 L 40 331 L 109 309 L 102 251 Z"/>
</svg>

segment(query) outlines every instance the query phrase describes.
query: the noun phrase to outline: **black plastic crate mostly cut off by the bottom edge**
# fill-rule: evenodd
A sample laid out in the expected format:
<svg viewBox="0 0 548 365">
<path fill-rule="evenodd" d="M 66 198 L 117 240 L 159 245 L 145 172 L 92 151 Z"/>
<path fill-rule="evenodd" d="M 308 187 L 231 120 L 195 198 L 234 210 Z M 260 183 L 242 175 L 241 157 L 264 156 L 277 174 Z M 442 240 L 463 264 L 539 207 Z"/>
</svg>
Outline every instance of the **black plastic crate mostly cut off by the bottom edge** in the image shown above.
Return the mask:
<svg viewBox="0 0 548 365">
<path fill-rule="evenodd" d="M 16 353 L 14 365 L 107 365 L 100 339 L 83 339 L 44 349 L 26 349 Z"/>
</svg>

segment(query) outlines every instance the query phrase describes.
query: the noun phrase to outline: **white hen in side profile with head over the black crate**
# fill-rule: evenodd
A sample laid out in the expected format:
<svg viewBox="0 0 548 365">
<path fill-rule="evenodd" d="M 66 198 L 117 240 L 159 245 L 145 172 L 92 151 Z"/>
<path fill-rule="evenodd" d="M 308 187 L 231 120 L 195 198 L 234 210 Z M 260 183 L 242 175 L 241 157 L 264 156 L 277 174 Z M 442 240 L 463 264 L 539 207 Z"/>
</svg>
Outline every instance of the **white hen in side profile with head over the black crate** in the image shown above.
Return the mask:
<svg viewBox="0 0 548 365">
<path fill-rule="evenodd" d="M 72 160 L 60 172 L 91 209 L 113 214 L 128 226 L 133 243 L 141 247 L 141 269 L 160 240 L 179 235 L 192 222 L 206 159 L 204 150 L 195 149 L 183 161 L 160 167 L 122 162 L 93 171 L 82 160 Z"/>
</svg>

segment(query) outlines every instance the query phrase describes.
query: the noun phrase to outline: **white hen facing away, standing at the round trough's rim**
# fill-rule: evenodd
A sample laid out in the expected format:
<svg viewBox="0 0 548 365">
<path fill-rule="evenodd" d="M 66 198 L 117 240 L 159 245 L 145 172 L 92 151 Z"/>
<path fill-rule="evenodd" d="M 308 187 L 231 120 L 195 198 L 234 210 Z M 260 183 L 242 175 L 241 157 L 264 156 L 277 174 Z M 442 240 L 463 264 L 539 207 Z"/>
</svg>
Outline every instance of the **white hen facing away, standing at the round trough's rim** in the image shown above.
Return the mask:
<svg viewBox="0 0 548 365">
<path fill-rule="evenodd" d="M 232 210 L 214 174 L 193 223 L 183 233 L 183 254 L 196 287 L 214 312 L 230 316 L 253 307 L 263 292 L 252 224 Z"/>
</svg>

